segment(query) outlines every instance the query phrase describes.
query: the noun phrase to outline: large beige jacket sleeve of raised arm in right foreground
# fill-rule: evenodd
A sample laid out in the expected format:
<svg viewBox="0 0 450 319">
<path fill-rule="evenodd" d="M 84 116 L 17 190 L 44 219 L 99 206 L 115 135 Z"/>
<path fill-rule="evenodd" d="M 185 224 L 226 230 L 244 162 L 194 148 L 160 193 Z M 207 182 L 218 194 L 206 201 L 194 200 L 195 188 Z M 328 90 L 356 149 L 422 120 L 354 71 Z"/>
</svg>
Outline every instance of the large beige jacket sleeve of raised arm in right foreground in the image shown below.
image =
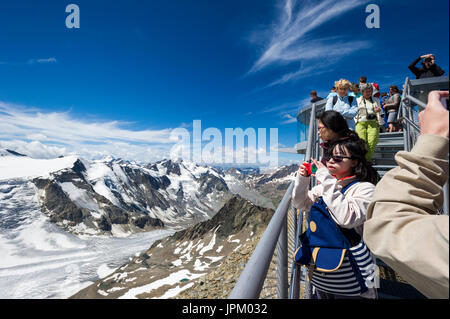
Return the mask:
<svg viewBox="0 0 450 319">
<path fill-rule="evenodd" d="M 370 250 L 429 298 L 449 298 L 449 217 L 436 215 L 448 139 L 421 135 L 378 183 L 364 224 Z"/>
</svg>

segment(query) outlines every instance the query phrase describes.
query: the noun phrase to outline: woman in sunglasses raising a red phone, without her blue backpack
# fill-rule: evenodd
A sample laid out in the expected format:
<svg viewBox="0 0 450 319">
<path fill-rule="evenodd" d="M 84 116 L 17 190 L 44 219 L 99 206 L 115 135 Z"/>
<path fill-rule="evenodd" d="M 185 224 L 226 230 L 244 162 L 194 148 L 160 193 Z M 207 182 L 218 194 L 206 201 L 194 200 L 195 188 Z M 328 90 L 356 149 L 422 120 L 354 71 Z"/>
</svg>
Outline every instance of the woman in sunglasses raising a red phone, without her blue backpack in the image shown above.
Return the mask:
<svg viewBox="0 0 450 319">
<path fill-rule="evenodd" d="M 310 191 L 310 176 L 305 166 L 300 165 L 292 194 L 294 207 L 312 212 L 317 203 L 325 204 L 331 216 L 331 223 L 335 223 L 334 227 L 337 225 L 338 229 L 354 232 L 361 241 L 367 208 L 372 200 L 376 182 L 376 173 L 366 160 L 366 154 L 366 143 L 357 136 L 334 142 L 325 155 L 326 165 L 312 159 L 317 166 L 315 176 L 318 185 Z M 321 227 L 310 225 L 309 231 L 315 232 L 316 228 Z M 370 252 L 368 254 L 373 259 Z M 342 289 L 344 293 L 341 293 L 341 280 L 336 280 L 333 285 L 335 290 L 324 289 L 315 284 L 314 278 L 318 275 L 322 274 L 314 269 L 311 282 L 319 299 L 376 298 L 376 290 L 373 287 L 366 287 L 362 293 L 346 294 L 345 289 Z M 344 286 L 345 282 L 342 285 Z"/>
</svg>

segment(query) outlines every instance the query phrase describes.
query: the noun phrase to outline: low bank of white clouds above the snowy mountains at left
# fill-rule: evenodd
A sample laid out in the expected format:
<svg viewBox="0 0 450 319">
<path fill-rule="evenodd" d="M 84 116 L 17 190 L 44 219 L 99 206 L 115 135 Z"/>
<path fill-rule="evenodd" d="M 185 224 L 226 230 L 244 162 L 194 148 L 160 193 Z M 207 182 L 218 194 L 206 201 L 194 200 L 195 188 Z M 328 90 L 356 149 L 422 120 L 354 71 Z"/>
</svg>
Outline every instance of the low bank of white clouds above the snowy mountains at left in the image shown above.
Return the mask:
<svg viewBox="0 0 450 319">
<path fill-rule="evenodd" d="M 167 158 L 172 145 L 171 129 L 132 130 L 120 121 L 87 122 L 68 112 L 46 113 L 35 108 L 0 102 L 1 148 L 32 157 L 52 158 L 78 154 L 139 161 Z"/>
</svg>

